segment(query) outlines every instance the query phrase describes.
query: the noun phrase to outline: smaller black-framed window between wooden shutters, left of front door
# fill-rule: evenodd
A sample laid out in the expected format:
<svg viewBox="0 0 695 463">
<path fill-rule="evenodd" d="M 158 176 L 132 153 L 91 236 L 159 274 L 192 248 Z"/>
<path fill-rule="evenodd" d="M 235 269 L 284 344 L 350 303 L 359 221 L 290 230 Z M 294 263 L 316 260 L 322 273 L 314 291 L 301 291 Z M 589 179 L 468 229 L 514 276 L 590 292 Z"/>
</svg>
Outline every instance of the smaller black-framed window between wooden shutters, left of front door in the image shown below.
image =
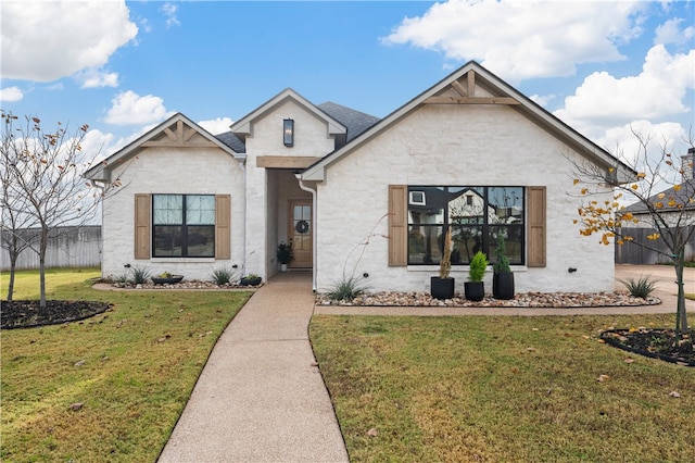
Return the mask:
<svg viewBox="0 0 695 463">
<path fill-rule="evenodd" d="M 215 256 L 214 195 L 152 195 L 154 258 Z"/>
</svg>

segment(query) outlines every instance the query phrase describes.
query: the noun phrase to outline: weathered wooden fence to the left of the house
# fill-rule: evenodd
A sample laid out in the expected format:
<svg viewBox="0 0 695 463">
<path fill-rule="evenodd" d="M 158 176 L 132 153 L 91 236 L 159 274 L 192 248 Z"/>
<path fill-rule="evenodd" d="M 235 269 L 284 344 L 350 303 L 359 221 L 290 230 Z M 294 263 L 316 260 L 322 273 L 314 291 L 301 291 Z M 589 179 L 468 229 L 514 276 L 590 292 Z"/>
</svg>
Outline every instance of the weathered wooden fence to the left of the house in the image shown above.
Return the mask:
<svg viewBox="0 0 695 463">
<path fill-rule="evenodd" d="M 36 233 L 36 230 L 23 230 Z M 101 226 L 59 227 L 49 237 L 46 250 L 47 267 L 98 267 L 101 266 Z M 17 259 L 17 270 L 38 268 L 39 255 L 25 249 Z M 0 250 L 0 268 L 10 270 L 10 254 Z"/>
</svg>

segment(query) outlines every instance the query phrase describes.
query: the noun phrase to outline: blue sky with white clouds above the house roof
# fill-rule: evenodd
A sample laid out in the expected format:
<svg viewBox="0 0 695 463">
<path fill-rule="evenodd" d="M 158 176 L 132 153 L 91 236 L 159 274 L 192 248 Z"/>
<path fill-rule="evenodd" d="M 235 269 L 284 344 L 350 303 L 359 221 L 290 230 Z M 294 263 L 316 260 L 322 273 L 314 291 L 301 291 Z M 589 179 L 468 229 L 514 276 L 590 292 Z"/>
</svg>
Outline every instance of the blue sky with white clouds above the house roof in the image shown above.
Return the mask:
<svg viewBox="0 0 695 463">
<path fill-rule="evenodd" d="M 175 112 L 225 132 L 287 87 L 384 116 L 476 60 L 611 151 L 695 125 L 692 1 L 1 3 L 0 105 L 102 154 Z M 675 142 L 684 151 L 686 145 Z"/>
</svg>

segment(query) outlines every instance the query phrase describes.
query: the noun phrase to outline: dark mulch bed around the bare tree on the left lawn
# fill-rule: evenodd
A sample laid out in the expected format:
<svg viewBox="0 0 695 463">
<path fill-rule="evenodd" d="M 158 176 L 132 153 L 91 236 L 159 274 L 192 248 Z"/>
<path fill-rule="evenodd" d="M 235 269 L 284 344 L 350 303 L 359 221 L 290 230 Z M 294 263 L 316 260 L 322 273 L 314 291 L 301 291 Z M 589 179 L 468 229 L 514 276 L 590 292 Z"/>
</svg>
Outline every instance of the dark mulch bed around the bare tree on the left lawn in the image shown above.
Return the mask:
<svg viewBox="0 0 695 463">
<path fill-rule="evenodd" d="M 36 326 L 60 325 L 76 322 L 103 313 L 111 304 L 99 301 L 2 301 L 0 328 L 31 328 Z"/>
</svg>

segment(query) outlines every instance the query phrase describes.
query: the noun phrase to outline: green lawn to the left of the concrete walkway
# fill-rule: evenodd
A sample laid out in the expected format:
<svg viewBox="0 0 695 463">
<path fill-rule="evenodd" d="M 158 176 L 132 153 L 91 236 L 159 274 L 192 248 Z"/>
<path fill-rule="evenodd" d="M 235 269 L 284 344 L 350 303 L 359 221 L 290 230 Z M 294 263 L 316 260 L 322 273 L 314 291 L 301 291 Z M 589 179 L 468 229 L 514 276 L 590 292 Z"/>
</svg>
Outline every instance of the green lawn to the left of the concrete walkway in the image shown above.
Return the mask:
<svg viewBox="0 0 695 463">
<path fill-rule="evenodd" d="M 155 461 L 215 341 L 251 295 L 99 291 L 85 283 L 94 276 L 50 271 L 48 298 L 108 301 L 111 311 L 2 331 L 0 460 Z M 5 275 L 2 284 L 4 298 Z M 22 272 L 16 287 L 15 299 L 38 298 L 36 272 Z"/>
</svg>

